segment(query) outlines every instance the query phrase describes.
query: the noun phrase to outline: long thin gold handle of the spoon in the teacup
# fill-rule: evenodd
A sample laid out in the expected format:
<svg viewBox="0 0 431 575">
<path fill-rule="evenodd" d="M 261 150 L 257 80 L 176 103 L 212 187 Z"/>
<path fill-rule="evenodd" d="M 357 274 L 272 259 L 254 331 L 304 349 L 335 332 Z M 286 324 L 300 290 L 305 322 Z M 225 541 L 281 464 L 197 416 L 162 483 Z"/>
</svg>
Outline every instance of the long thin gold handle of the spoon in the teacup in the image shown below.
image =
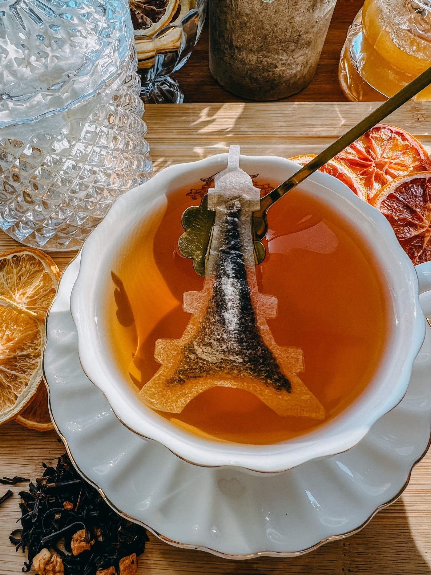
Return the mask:
<svg viewBox="0 0 431 575">
<path fill-rule="evenodd" d="M 266 213 L 277 200 L 283 197 L 284 194 L 293 187 L 297 186 L 298 183 L 301 183 L 303 180 L 308 178 L 309 175 L 324 166 L 326 162 L 332 160 L 334 156 L 342 152 L 348 147 L 348 145 L 352 144 L 360 136 L 363 136 L 365 132 L 368 132 L 368 130 L 376 124 L 379 124 L 379 122 L 397 110 L 399 106 L 402 106 L 409 99 L 413 98 L 413 96 L 418 94 L 429 84 L 431 84 L 431 66 L 427 68 L 425 72 L 422 72 L 420 76 L 407 84 L 407 86 L 399 90 L 397 94 L 394 94 L 379 106 L 379 108 L 376 108 L 374 112 L 371 112 L 371 114 L 361 120 L 359 124 L 353 126 L 353 128 L 338 138 L 338 140 L 330 144 L 326 150 L 313 158 L 311 162 L 303 166 L 301 170 L 298 170 L 297 173 L 287 179 L 286 182 L 283 182 L 269 194 L 261 198 L 260 209 L 253 213 L 253 232 L 255 241 L 261 240 L 267 233 Z"/>
</svg>

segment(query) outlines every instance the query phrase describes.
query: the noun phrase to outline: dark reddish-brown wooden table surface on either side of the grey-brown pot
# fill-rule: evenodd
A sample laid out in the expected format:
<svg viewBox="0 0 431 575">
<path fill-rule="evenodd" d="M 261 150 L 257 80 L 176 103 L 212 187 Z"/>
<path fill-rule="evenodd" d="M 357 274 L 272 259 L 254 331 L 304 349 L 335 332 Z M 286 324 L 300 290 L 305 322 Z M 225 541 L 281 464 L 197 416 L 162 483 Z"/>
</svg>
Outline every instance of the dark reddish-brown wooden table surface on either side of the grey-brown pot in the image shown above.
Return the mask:
<svg viewBox="0 0 431 575">
<path fill-rule="evenodd" d="M 214 0 L 213 0 L 214 1 Z M 338 62 L 347 29 L 352 24 L 364 0 L 338 0 L 326 35 L 316 73 L 310 84 L 287 102 L 337 102 L 345 100 L 338 83 Z M 184 92 L 184 104 L 201 102 L 240 102 L 217 84 L 208 67 L 208 27 L 195 46 L 186 66 L 174 74 Z"/>
</svg>

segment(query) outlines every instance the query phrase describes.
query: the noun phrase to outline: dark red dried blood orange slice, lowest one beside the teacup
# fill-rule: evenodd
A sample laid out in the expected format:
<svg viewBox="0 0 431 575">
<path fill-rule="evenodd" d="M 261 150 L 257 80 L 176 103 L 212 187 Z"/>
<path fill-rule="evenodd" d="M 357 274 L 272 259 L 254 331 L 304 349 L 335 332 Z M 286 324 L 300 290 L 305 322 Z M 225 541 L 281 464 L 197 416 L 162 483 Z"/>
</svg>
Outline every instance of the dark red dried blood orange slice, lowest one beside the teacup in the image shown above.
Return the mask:
<svg viewBox="0 0 431 575">
<path fill-rule="evenodd" d="M 374 206 L 387 217 L 414 264 L 431 256 L 431 171 L 396 178 L 382 187 Z"/>
</svg>

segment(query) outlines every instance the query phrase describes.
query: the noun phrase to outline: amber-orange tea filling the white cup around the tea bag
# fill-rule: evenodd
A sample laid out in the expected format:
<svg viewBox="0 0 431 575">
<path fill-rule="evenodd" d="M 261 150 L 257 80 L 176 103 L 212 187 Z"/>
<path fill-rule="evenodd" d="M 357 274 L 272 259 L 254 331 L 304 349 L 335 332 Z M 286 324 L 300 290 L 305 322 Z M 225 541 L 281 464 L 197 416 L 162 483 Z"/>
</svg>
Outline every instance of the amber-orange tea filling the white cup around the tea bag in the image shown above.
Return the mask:
<svg viewBox="0 0 431 575">
<path fill-rule="evenodd" d="M 182 336 L 190 319 L 183 293 L 202 290 L 203 278 L 177 245 L 184 209 L 198 204 L 190 187 L 178 190 L 113 270 L 111 346 L 135 389 L 160 367 L 156 340 Z M 360 237 L 301 190 L 290 191 L 268 212 L 268 225 L 267 256 L 256 268 L 259 291 L 278 299 L 278 316 L 268 325 L 280 346 L 302 348 L 305 371 L 298 375 L 328 421 L 359 396 L 382 357 L 388 331 L 383 286 Z M 325 423 L 279 416 L 253 394 L 222 387 L 201 393 L 182 413 L 159 413 L 194 434 L 250 444 L 280 442 Z"/>
</svg>

